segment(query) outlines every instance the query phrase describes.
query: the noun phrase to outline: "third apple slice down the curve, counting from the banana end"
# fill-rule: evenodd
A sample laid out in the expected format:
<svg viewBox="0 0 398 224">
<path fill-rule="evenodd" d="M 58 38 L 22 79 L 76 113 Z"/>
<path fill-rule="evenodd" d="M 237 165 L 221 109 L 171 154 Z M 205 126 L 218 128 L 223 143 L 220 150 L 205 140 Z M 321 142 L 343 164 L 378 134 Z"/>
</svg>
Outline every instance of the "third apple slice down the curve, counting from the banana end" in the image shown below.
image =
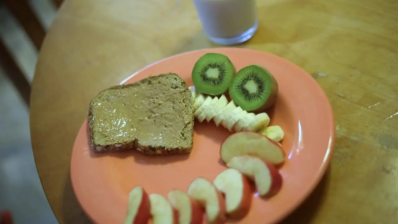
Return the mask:
<svg viewBox="0 0 398 224">
<path fill-rule="evenodd" d="M 236 169 L 226 169 L 217 175 L 213 184 L 225 196 L 226 214 L 233 218 L 243 218 L 252 202 L 248 179 Z"/>
</svg>

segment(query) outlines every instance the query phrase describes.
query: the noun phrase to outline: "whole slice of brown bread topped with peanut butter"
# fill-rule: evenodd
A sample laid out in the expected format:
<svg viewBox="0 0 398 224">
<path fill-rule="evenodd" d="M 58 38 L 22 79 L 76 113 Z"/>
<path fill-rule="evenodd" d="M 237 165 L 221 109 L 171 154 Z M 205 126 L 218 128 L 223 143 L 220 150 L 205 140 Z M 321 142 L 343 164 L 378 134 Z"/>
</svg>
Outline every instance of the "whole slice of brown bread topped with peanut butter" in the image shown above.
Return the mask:
<svg viewBox="0 0 398 224">
<path fill-rule="evenodd" d="M 154 155 L 190 153 L 193 145 L 192 94 L 174 73 L 113 86 L 90 103 L 92 149 L 137 149 Z"/>
</svg>

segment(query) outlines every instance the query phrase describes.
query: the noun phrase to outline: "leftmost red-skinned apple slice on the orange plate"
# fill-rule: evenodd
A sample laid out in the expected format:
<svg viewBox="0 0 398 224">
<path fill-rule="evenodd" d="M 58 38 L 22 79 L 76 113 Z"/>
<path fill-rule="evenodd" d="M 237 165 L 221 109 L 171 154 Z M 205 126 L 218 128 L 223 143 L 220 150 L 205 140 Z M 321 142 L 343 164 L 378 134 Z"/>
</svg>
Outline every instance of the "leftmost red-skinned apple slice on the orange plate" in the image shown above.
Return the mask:
<svg viewBox="0 0 398 224">
<path fill-rule="evenodd" d="M 129 193 L 129 206 L 125 224 L 147 223 L 150 218 L 148 193 L 141 187 L 133 188 Z"/>
</svg>

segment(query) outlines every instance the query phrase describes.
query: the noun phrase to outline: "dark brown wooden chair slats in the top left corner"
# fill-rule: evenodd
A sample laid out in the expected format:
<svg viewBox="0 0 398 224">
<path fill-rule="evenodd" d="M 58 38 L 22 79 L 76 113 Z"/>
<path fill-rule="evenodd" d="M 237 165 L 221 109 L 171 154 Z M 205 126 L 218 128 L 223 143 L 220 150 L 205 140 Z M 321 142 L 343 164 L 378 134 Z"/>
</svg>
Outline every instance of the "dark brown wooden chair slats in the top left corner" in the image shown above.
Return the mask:
<svg viewBox="0 0 398 224">
<path fill-rule="evenodd" d="M 54 4 L 59 7 L 63 0 L 53 0 Z M 32 40 L 33 44 L 40 50 L 41 44 L 45 37 L 45 29 L 40 24 L 37 16 L 31 9 L 27 0 L 4 0 L 4 4 L 8 10 L 14 15 L 18 23 L 25 29 L 25 32 Z M 7 49 L 6 44 L 0 38 L 0 65 L 6 72 L 7 77 L 12 81 L 18 89 L 21 97 L 29 106 L 31 85 L 23 75 L 20 66 L 16 62 L 12 53 Z"/>
</svg>

